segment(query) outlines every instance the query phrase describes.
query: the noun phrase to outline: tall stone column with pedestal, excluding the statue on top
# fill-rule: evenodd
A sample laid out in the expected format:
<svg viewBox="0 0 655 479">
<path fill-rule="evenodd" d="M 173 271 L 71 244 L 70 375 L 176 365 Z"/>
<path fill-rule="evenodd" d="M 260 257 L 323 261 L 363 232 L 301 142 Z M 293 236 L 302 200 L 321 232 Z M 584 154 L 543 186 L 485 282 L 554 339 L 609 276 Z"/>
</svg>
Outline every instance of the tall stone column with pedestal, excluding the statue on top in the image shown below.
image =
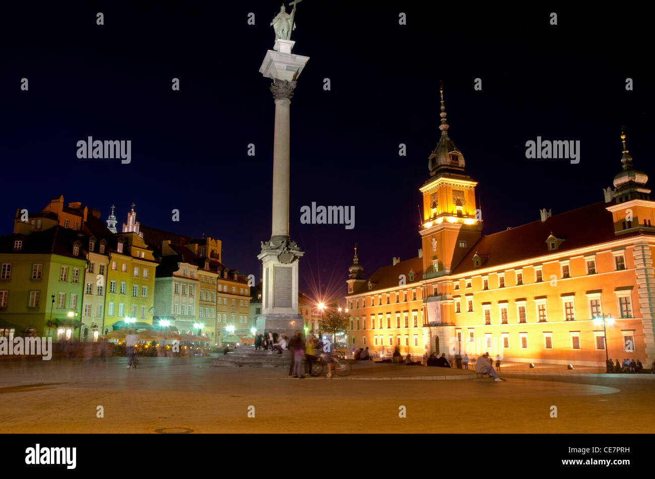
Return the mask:
<svg viewBox="0 0 655 479">
<path fill-rule="evenodd" d="M 256 327 L 260 332 L 277 332 L 291 336 L 303 330 L 298 313 L 298 260 L 305 253 L 289 235 L 290 195 L 290 104 L 296 79 L 308 57 L 291 53 L 295 42 L 276 39 L 259 71 L 272 79 L 275 100 L 273 140 L 273 192 L 271 202 L 271 240 L 261 242 L 262 314 Z"/>
</svg>

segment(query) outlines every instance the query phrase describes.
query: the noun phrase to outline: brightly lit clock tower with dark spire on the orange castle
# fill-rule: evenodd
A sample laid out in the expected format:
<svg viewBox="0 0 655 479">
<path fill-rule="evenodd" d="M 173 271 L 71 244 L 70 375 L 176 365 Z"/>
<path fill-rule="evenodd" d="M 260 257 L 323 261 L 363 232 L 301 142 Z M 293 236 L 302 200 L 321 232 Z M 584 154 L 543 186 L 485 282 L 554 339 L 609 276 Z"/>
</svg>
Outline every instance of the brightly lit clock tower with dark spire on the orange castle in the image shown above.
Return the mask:
<svg viewBox="0 0 655 479">
<path fill-rule="evenodd" d="M 424 279 L 447 275 L 479 240 L 481 213 L 476 208 L 476 185 L 464 173 L 464 155 L 448 135 L 441 94 L 441 138 L 428 158 L 430 179 L 419 188 L 423 195 L 421 241 Z"/>
</svg>

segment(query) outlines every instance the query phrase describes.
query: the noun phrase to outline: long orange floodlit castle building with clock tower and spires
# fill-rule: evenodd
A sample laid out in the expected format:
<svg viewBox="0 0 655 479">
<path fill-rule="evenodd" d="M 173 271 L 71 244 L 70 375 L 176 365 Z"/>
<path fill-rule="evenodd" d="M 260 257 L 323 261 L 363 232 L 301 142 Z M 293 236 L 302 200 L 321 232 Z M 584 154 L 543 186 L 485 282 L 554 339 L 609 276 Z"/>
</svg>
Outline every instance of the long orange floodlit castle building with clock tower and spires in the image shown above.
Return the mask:
<svg viewBox="0 0 655 479">
<path fill-rule="evenodd" d="M 443 92 L 440 141 L 419 190 L 422 249 L 369 277 L 357 251 L 346 304 L 349 342 L 421 357 L 603 366 L 655 359 L 655 202 L 622 135 L 622 169 L 601 202 L 482 236 L 477 182 L 450 139 Z M 360 252 L 361 254 L 361 252 Z M 605 324 L 603 324 L 605 318 Z"/>
</svg>

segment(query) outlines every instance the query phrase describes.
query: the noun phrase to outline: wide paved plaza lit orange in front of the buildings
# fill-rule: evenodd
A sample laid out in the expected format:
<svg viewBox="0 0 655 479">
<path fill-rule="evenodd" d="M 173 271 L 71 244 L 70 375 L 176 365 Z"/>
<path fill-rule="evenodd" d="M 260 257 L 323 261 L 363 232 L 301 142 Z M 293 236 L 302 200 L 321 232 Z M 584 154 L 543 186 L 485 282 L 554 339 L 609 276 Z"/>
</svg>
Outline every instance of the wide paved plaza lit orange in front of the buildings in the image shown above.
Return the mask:
<svg viewBox="0 0 655 479">
<path fill-rule="evenodd" d="M 121 357 L 86 366 L 1 361 L 0 433 L 650 433 L 655 426 L 655 377 L 646 374 L 523 365 L 494 382 L 473 371 L 358 363 L 346 378 L 299 380 L 284 368 L 214 367 L 211 358 L 144 357 L 138 370 L 125 366 Z"/>
</svg>

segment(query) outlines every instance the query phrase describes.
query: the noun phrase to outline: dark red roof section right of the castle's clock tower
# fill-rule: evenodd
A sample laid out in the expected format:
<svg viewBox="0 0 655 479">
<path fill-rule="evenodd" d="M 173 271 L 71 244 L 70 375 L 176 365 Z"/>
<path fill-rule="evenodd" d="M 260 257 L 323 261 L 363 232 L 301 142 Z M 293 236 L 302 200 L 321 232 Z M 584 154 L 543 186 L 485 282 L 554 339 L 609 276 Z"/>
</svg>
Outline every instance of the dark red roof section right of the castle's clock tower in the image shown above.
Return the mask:
<svg viewBox="0 0 655 479">
<path fill-rule="evenodd" d="M 639 233 L 633 233 L 615 236 L 612 213 L 605 209 L 607 205 L 605 202 L 598 202 L 553 215 L 544 222 L 533 221 L 516 228 L 483 236 L 455 267 L 453 274 L 473 273 L 478 269 L 553 253 L 548 251 L 546 243 L 546 239 L 551 233 L 556 238 L 564 240 L 555 250 L 556 252 L 639 235 Z M 478 268 L 474 268 L 473 263 L 476 253 L 483 259 Z"/>
</svg>

